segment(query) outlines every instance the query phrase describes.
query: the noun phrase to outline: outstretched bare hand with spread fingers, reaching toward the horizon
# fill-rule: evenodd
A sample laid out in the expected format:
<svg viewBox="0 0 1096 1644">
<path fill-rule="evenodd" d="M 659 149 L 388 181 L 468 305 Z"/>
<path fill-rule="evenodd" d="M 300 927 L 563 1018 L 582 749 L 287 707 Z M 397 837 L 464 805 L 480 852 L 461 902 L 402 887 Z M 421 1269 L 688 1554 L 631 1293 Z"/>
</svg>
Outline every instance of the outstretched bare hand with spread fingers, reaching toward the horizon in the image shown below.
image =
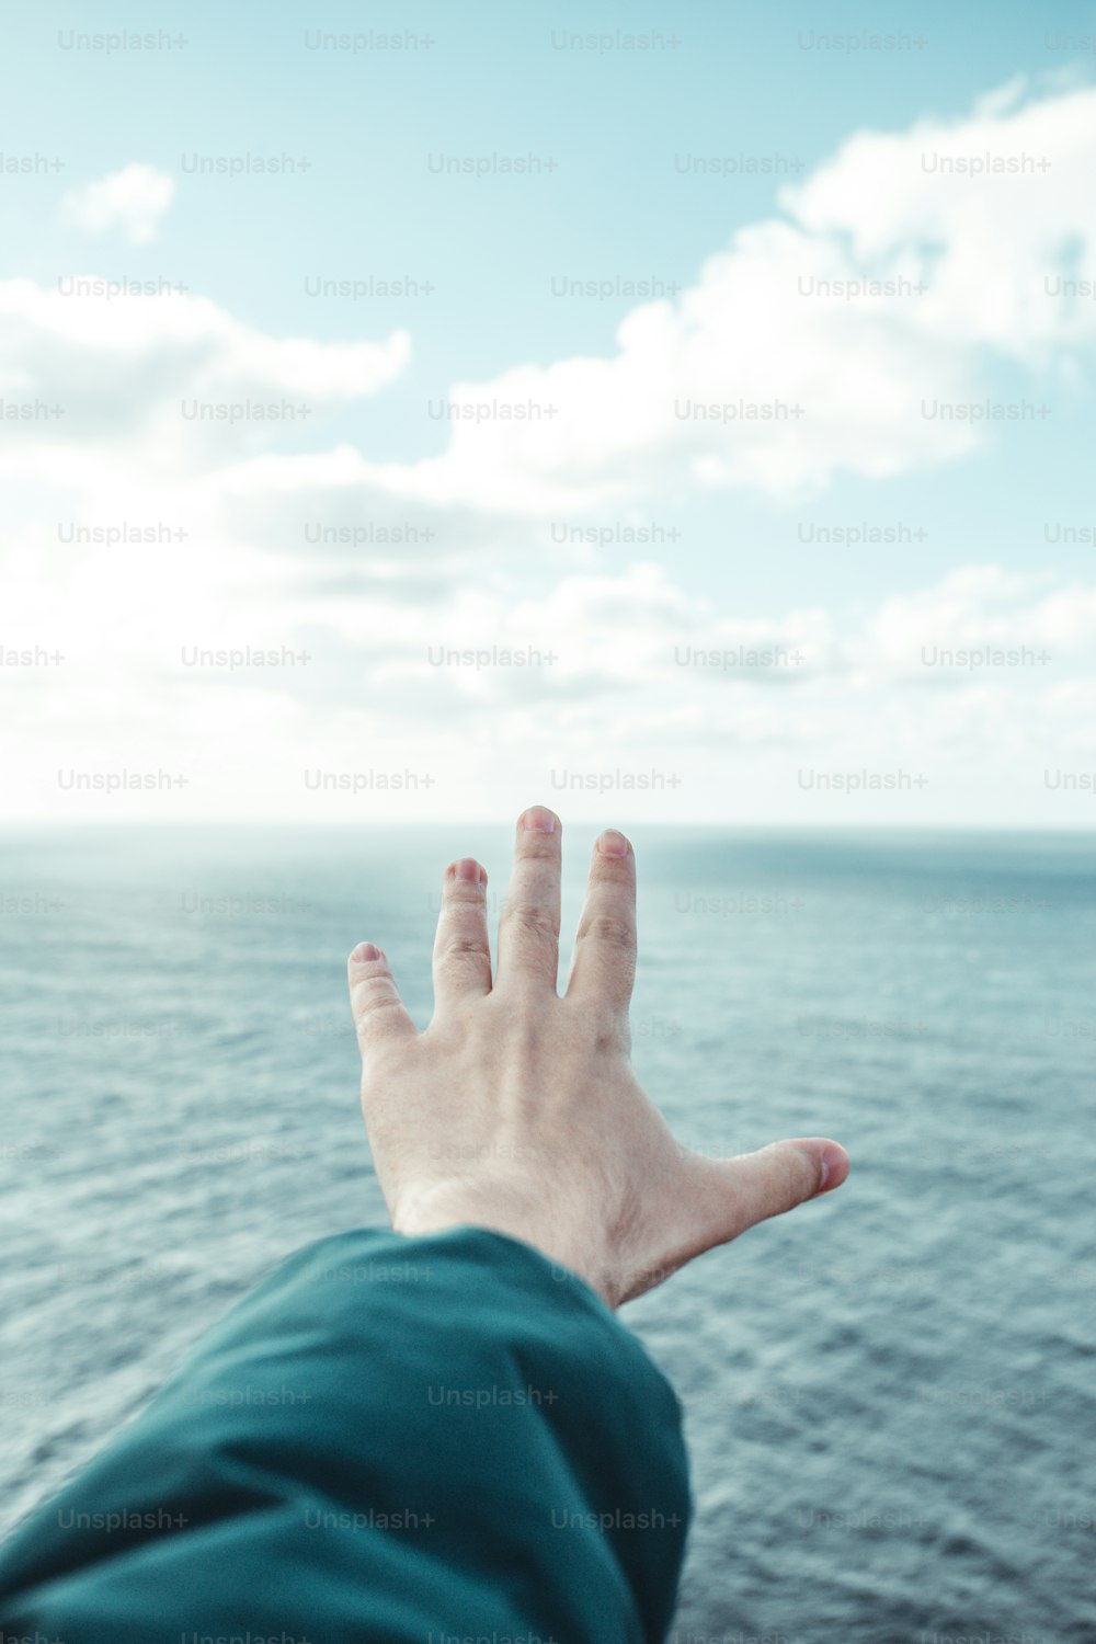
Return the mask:
<svg viewBox="0 0 1096 1644">
<path fill-rule="evenodd" d="M 616 1307 L 754 1221 L 840 1187 L 848 1156 L 818 1138 L 736 1159 L 680 1148 L 636 1082 L 636 858 L 601 834 L 567 991 L 557 993 L 560 824 L 518 822 L 491 973 L 486 873 L 445 870 L 434 1019 L 419 1032 L 385 954 L 350 955 L 361 1105 L 399 1233 L 477 1225 L 580 1274 Z"/>
</svg>

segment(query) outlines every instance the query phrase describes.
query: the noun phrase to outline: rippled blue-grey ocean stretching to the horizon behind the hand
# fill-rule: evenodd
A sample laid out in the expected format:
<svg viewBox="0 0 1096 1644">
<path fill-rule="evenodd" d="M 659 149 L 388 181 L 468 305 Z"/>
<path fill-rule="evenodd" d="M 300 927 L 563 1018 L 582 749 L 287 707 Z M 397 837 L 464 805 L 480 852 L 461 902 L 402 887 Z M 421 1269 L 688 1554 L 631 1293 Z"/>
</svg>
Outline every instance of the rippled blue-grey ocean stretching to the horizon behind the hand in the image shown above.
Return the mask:
<svg viewBox="0 0 1096 1644">
<path fill-rule="evenodd" d="M 631 837 L 634 1062 L 679 1139 L 853 1161 L 621 1314 L 685 1409 L 670 1637 L 1091 1644 L 1096 845 Z M 345 955 L 381 942 L 426 1023 L 465 853 L 496 904 L 508 829 L 7 832 L 0 1532 L 281 1256 L 385 1225 Z"/>
</svg>

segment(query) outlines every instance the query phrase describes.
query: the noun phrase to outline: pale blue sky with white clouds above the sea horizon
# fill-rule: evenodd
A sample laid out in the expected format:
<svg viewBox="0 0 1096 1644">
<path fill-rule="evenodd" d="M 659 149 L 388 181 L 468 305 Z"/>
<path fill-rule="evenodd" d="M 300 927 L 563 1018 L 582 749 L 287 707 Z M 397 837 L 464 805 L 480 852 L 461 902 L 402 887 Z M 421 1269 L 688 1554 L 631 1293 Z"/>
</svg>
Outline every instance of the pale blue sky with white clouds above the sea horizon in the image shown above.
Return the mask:
<svg viewBox="0 0 1096 1644">
<path fill-rule="evenodd" d="M 1089 825 L 1096 5 L 3 33 L 3 817 Z"/>
</svg>

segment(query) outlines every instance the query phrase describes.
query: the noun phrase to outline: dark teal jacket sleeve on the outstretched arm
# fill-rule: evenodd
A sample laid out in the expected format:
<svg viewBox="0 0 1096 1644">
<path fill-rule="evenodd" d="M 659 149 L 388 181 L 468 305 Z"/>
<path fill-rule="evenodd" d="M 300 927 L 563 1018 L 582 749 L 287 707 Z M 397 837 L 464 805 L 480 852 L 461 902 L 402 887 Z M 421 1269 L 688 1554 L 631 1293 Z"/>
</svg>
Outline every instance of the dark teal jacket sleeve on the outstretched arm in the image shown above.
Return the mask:
<svg viewBox="0 0 1096 1644">
<path fill-rule="evenodd" d="M 297 1251 L 0 1552 L 0 1636 L 661 1641 L 680 1406 L 582 1279 L 483 1228 Z"/>
</svg>

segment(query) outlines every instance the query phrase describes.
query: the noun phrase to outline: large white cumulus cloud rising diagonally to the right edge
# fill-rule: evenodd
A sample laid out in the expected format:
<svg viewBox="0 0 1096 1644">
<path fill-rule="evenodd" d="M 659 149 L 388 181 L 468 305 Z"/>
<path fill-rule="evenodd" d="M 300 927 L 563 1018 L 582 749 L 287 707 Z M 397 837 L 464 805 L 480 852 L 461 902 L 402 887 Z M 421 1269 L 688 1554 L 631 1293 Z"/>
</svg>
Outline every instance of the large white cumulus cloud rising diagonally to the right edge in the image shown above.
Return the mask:
<svg viewBox="0 0 1096 1644">
<path fill-rule="evenodd" d="M 986 427 L 940 404 L 979 401 L 999 360 L 1060 388 L 1096 344 L 1068 283 L 1096 273 L 1096 90 L 1017 95 L 856 133 L 677 302 L 634 309 L 613 355 L 457 385 L 445 454 L 386 483 L 537 511 L 963 457 Z"/>
</svg>

